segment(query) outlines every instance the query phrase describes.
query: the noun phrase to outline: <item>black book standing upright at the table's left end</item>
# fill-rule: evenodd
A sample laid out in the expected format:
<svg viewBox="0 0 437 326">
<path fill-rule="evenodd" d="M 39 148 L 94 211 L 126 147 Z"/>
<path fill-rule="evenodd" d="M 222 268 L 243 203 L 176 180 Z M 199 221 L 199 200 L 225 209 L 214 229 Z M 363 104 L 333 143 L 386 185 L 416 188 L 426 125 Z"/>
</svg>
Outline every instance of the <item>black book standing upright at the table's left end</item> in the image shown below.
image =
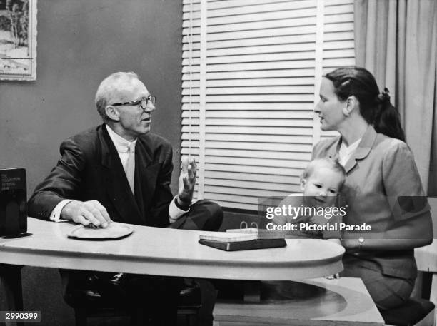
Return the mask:
<svg viewBox="0 0 437 326">
<path fill-rule="evenodd" d="M 0 236 L 27 230 L 26 170 L 0 170 Z"/>
</svg>

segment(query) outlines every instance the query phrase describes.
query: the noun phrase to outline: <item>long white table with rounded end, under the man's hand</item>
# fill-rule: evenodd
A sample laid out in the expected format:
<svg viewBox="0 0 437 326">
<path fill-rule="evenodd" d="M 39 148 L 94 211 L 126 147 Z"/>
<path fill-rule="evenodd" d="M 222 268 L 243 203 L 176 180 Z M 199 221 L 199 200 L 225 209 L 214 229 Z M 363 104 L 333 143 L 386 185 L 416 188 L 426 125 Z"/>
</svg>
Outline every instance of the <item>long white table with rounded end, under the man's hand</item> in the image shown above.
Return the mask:
<svg viewBox="0 0 437 326">
<path fill-rule="evenodd" d="M 72 223 L 28 219 L 25 238 L 0 239 L 0 263 L 236 280 L 303 280 L 343 270 L 343 247 L 326 240 L 287 240 L 285 248 L 225 252 L 198 243 L 204 231 L 131 225 L 121 240 L 75 240 Z M 7 265 L 4 265 L 7 266 Z M 6 309 L 22 307 L 21 277 L 6 268 L 0 295 Z"/>
</svg>

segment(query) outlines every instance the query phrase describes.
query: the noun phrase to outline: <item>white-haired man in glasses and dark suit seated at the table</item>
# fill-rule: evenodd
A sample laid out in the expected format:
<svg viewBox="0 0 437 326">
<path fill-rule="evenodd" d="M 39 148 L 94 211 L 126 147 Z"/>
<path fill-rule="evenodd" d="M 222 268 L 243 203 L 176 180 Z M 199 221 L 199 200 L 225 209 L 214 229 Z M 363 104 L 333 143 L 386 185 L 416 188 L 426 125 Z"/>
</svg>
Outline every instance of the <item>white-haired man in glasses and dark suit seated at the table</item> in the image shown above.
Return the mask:
<svg viewBox="0 0 437 326">
<path fill-rule="evenodd" d="M 111 221 L 194 230 L 218 230 L 221 208 L 199 200 L 191 205 L 196 163 L 182 162 L 179 192 L 171 194 L 172 150 L 168 141 L 149 133 L 155 97 L 135 73 L 113 73 L 96 92 L 101 126 L 61 143 L 61 159 L 36 187 L 29 215 L 72 220 L 105 228 Z M 98 280 L 118 284 L 120 275 L 69 271 L 69 291 Z M 123 291 L 147 304 L 165 325 L 176 320 L 179 279 L 124 275 Z M 91 284 L 92 285 L 92 284 Z M 89 285 L 89 286 L 91 286 Z M 134 299 L 133 299 L 134 298 Z M 77 299 L 77 298 L 76 298 Z M 139 302 L 137 302 L 139 303 Z"/>
</svg>

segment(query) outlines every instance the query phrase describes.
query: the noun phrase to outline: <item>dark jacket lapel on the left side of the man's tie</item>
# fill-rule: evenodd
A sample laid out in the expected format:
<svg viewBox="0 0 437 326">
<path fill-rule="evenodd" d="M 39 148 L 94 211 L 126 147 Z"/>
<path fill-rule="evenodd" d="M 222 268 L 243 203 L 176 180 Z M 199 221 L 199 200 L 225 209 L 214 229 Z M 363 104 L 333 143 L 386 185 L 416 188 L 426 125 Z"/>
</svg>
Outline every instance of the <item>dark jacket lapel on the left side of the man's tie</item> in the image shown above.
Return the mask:
<svg viewBox="0 0 437 326">
<path fill-rule="evenodd" d="M 123 219 L 121 222 L 141 225 L 144 219 L 129 187 L 119 153 L 106 131 L 106 126 L 102 126 L 101 131 L 101 165 L 106 169 L 106 191 Z"/>
</svg>

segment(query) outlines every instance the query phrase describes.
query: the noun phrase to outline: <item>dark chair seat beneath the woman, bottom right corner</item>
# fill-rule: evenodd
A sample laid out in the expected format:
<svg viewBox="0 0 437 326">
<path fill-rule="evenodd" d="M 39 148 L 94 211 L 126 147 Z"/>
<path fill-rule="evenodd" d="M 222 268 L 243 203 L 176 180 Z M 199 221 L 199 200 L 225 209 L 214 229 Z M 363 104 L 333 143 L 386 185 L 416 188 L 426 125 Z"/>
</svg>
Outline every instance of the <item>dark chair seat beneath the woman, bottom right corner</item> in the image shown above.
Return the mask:
<svg viewBox="0 0 437 326">
<path fill-rule="evenodd" d="M 410 298 L 399 307 L 380 312 L 388 326 L 435 326 L 436 309 L 428 300 Z"/>
</svg>

